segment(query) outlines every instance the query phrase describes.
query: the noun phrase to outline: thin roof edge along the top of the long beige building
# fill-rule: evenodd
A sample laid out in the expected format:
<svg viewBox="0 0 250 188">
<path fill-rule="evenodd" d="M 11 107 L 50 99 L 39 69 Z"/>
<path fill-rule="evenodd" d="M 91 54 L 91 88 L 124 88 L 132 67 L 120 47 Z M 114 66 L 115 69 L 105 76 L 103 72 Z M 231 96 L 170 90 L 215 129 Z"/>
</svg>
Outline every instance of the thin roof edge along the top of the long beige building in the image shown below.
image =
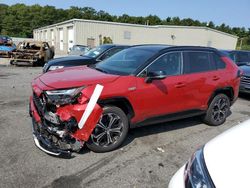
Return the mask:
<svg viewBox="0 0 250 188">
<path fill-rule="evenodd" d="M 86 19 L 71 19 L 63 22 L 59 22 L 56 24 L 40 27 L 37 29 L 34 29 L 34 31 L 41 30 L 41 29 L 48 29 L 50 27 L 56 27 L 64 24 L 70 24 L 75 22 L 88 22 L 88 23 L 98 23 L 98 24 L 109 24 L 109 25 L 120 25 L 120 26 L 130 26 L 130 27 L 143 27 L 143 28 L 185 28 L 185 29 L 203 29 L 208 31 L 217 32 L 223 35 L 228 35 L 233 38 L 238 38 L 238 36 L 225 33 L 216 29 L 212 29 L 210 27 L 204 27 L 204 26 L 179 26 L 179 25 L 141 25 L 141 24 L 130 24 L 130 23 L 120 23 L 120 22 L 109 22 L 109 21 L 99 21 L 99 20 L 86 20 Z"/>
</svg>

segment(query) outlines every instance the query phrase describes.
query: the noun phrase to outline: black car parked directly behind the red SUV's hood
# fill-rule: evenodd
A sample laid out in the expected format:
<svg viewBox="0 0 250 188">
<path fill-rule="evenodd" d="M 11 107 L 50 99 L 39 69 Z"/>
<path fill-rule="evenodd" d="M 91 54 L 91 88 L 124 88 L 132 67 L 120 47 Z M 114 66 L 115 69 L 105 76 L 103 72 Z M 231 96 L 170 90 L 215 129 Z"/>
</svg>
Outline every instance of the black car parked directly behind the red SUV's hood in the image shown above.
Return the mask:
<svg viewBox="0 0 250 188">
<path fill-rule="evenodd" d="M 43 72 L 64 67 L 95 64 L 128 47 L 127 45 L 104 44 L 91 49 L 81 56 L 55 58 L 44 65 Z"/>
</svg>

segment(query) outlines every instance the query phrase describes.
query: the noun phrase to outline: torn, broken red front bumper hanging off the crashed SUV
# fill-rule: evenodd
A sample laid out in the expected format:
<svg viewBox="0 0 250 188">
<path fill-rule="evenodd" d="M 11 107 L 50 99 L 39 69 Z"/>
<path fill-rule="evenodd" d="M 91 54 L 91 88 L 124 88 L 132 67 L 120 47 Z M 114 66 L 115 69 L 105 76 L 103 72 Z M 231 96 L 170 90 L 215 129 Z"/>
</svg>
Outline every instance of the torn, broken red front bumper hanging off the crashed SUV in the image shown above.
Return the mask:
<svg viewBox="0 0 250 188">
<path fill-rule="evenodd" d="M 40 115 L 41 113 L 39 114 L 38 107 L 34 102 L 32 96 L 30 97 L 29 106 L 29 113 L 32 117 L 32 131 L 35 145 L 47 154 L 54 156 L 70 157 L 72 151 L 75 151 L 75 147 L 65 149 L 65 147 L 61 148 L 58 144 L 53 142 L 53 139 L 51 139 L 51 136 L 53 136 L 53 134 L 51 134 L 50 128 L 48 128 L 48 120 L 45 120 L 44 117 Z M 77 120 L 77 123 L 79 123 L 86 106 L 87 104 L 78 104 L 76 106 L 69 105 L 59 107 L 59 109 L 57 110 L 57 116 L 61 120 L 60 122 L 62 124 L 58 126 L 63 126 L 63 123 L 65 123 L 72 117 L 74 117 Z M 86 123 L 84 124 L 84 127 L 82 127 L 81 129 L 78 128 L 72 133 L 67 133 L 67 136 L 70 137 L 70 139 L 75 140 L 75 142 L 78 144 L 77 147 L 79 147 L 79 144 L 81 144 L 81 146 L 79 147 L 81 148 L 84 142 L 88 141 L 88 138 L 94 130 L 101 114 L 102 108 L 98 104 L 96 104 L 94 110 L 92 111 L 91 115 L 88 117 Z M 69 144 L 67 146 L 69 146 Z"/>
</svg>

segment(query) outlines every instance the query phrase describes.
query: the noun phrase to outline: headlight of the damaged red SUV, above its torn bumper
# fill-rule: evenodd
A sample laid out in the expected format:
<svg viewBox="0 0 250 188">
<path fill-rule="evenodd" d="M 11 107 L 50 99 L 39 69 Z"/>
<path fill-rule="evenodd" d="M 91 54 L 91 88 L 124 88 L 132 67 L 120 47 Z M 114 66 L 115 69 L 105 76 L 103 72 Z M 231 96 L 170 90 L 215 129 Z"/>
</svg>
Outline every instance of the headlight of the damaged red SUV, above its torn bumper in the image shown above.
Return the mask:
<svg viewBox="0 0 250 188">
<path fill-rule="evenodd" d="M 45 91 L 48 103 L 64 105 L 75 102 L 85 87 Z"/>
</svg>

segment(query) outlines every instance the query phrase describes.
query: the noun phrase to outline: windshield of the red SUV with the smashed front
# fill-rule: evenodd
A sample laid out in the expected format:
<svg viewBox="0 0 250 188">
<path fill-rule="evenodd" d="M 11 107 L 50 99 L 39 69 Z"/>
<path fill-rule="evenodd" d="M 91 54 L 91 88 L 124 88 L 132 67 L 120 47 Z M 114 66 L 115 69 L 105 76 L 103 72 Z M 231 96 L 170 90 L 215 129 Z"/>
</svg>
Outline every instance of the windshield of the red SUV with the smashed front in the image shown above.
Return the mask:
<svg viewBox="0 0 250 188">
<path fill-rule="evenodd" d="M 96 64 L 95 68 L 117 75 L 129 75 L 155 54 L 147 49 L 128 48 Z"/>
</svg>

